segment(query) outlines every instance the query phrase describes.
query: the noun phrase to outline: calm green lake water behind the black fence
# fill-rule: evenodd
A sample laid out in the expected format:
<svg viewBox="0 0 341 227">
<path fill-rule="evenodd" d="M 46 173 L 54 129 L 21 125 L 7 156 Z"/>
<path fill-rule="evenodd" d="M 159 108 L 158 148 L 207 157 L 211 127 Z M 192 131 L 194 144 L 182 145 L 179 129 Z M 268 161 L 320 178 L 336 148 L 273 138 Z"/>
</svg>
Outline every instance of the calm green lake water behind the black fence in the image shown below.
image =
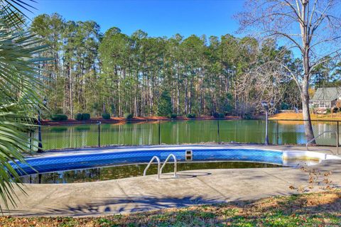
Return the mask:
<svg viewBox="0 0 341 227">
<path fill-rule="evenodd" d="M 182 143 L 264 143 L 265 121 L 158 121 L 139 123 L 43 126 L 43 149 L 82 148 L 101 145 L 157 145 Z M 159 136 L 160 128 L 160 136 Z M 336 122 L 313 122 L 315 135 L 337 131 Z M 37 133 L 35 133 L 37 134 Z M 269 142 L 272 144 L 304 144 L 302 121 L 269 121 Z M 335 133 L 325 133 L 317 140 L 320 145 L 335 145 Z"/>
</svg>

